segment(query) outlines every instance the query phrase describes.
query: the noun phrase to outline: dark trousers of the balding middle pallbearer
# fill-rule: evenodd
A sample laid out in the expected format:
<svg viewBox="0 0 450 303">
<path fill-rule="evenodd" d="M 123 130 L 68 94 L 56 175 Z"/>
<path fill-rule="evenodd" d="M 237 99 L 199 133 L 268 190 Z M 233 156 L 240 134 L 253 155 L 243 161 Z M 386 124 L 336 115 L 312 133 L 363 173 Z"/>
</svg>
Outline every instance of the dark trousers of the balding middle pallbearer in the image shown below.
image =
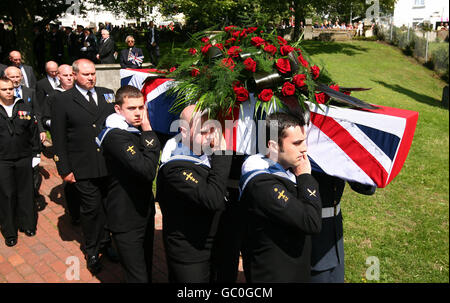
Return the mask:
<svg viewBox="0 0 450 303">
<path fill-rule="evenodd" d="M 209 283 L 211 263 L 178 263 L 167 259 L 169 282 L 171 283 Z"/>
</svg>

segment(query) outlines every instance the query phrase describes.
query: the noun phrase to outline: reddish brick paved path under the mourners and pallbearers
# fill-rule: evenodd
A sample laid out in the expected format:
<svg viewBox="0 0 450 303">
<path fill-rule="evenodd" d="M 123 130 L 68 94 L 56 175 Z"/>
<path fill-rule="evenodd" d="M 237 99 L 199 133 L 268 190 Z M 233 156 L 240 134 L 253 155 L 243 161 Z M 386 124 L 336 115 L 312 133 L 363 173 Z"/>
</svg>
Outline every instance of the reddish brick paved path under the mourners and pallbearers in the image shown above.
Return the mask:
<svg viewBox="0 0 450 303">
<path fill-rule="evenodd" d="M 19 232 L 18 243 L 7 247 L 0 236 L 0 282 L 12 283 L 120 283 L 124 282 L 122 267 L 101 258 L 103 270 L 93 276 L 86 269 L 84 255 L 80 249 L 82 243 L 81 228 L 73 226 L 66 213 L 62 180 L 59 178 L 53 160 L 42 155 L 40 166 L 43 172 L 41 194 L 48 203 L 39 212 L 36 236 L 27 237 Z M 155 240 L 153 247 L 153 282 L 167 282 L 167 266 L 162 243 L 161 212 L 157 205 L 155 217 Z M 67 258 L 75 256 L 79 260 L 79 280 L 68 280 L 66 271 L 73 273 L 74 263 Z M 71 267 L 72 266 L 72 267 Z M 69 269 L 69 270 L 68 270 Z M 242 265 L 239 281 L 244 281 Z"/>
</svg>

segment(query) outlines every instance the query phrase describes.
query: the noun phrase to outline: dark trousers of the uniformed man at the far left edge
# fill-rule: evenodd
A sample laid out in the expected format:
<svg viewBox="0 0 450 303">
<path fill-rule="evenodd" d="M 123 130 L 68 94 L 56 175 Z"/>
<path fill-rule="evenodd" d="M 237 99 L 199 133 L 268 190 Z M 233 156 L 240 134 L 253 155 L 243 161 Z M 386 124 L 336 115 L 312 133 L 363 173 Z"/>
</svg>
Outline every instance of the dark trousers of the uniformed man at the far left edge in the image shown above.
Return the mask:
<svg viewBox="0 0 450 303">
<path fill-rule="evenodd" d="M 31 157 L 0 160 L 0 225 L 5 239 L 16 238 L 17 230 L 36 230 Z"/>
</svg>

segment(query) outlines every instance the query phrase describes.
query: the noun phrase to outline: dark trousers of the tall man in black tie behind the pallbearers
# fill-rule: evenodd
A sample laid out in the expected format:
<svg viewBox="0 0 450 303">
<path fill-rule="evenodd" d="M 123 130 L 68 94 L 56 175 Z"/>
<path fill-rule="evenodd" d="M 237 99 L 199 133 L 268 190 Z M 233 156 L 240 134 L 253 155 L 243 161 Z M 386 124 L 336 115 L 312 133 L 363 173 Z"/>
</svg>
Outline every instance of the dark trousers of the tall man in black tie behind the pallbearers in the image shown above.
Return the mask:
<svg viewBox="0 0 450 303">
<path fill-rule="evenodd" d="M 77 180 L 74 186 L 80 199 L 80 221 L 88 256 L 98 255 L 102 244 L 110 242 L 105 230 L 106 215 L 103 199 L 107 194 L 107 178 Z"/>
</svg>

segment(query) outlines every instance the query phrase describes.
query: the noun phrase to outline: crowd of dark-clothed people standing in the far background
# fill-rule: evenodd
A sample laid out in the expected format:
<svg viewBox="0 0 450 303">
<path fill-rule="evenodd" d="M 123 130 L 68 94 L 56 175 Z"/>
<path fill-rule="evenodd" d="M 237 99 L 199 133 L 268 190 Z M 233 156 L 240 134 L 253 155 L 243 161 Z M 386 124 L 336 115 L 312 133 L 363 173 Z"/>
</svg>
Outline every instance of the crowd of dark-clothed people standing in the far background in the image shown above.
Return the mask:
<svg viewBox="0 0 450 303">
<path fill-rule="evenodd" d="M 9 55 L 13 50 L 20 50 L 20 45 L 14 34 L 14 24 L 0 19 L 0 64 L 10 65 Z M 89 59 L 95 64 L 121 63 L 122 67 L 139 68 L 142 65 L 131 60 L 130 64 L 122 64 L 121 51 L 126 49 L 127 55 L 136 55 L 129 49 L 136 44 L 146 47 L 148 58 L 144 62 L 157 65 L 159 59 L 159 42 L 181 40 L 186 36 L 179 23 L 156 26 L 153 22 L 143 22 L 139 25 L 112 25 L 109 22 L 82 26 L 62 26 L 50 23 L 45 26 L 36 24 L 33 27 L 33 54 L 35 72 L 45 76 L 45 62 L 54 61 L 61 64 L 72 64 L 77 59 Z M 149 36 L 150 34 L 150 36 Z M 130 38 L 131 37 L 131 38 Z M 150 40 L 148 40 L 150 39 Z M 152 40 L 153 39 L 153 40 Z M 134 40 L 130 47 L 128 41 Z M 139 53 L 138 57 L 144 54 Z M 23 53 L 22 53 L 23 56 Z M 126 62 L 129 60 L 126 58 Z M 138 59 L 138 61 L 141 61 Z"/>
</svg>

